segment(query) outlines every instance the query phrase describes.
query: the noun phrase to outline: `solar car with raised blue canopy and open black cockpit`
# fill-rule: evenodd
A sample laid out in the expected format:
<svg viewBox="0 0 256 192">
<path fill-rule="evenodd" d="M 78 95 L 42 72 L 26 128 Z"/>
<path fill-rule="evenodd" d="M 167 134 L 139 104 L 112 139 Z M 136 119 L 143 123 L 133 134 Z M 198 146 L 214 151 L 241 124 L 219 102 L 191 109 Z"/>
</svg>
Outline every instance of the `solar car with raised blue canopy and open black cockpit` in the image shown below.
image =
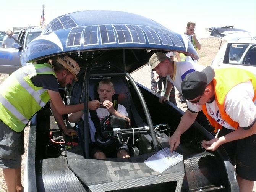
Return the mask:
<svg viewBox="0 0 256 192">
<path fill-rule="evenodd" d="M 69 56 L 78 62 L 78 81 L 59 90 L 64 103 L 84 103 L 84 121 L 71 124 L 63 115 L 66 125 L 79 131 L 78 137 L 70 137 L 63 135 L 55 123 L 49 104 L 33 116 L 25 191 L 238 191 L 227 153 L 222 147 L 214 152 L 201 147 L 202 140 L 213 136 L 197 122 L 181 136 L 175 151 L 182 157 L 178 163 L 163 171 L 148 166 L 154 155 L 169 148 L 169 137 L 183 115 L 169 101 L 160 104 L 159 95 L 130 75 L 147 65 L 150 56 L 159 51 L 177 51 L 198 59 L 193 45 L 183 35 L 133 13 L 87 10 L 49 22 L 29 44 L 27 62 L 37 65 L 54 56 Z M 97 127 L 96 144 L 128 145 L 130 158 L 90 157 L 88 101 L 97 99 L 97 84 L 102 79 L 113 82 L 115 102 L 125 106 L 131 126 L 124 129 L 122 119 L 107 116 Z M 150 163 L 164 166 L 154 160 Z"/>
</svg>

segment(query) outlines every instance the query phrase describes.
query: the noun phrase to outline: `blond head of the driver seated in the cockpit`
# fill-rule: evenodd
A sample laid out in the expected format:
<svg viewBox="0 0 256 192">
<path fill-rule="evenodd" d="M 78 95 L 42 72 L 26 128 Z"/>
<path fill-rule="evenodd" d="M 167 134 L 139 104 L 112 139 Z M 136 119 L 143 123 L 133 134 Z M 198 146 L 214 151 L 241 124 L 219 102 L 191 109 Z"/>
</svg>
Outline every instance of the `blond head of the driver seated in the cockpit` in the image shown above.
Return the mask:
<svg viewBox="0 0 256 192">
<path fill-rule="evenodd" d="M 98 94 L 100 102 L 104 102 L 106 100 L 112 101 L 112 96 L 115 94 L 113 83 L 109 79 L 100 81 L 98 85 Z"/>
</svg>

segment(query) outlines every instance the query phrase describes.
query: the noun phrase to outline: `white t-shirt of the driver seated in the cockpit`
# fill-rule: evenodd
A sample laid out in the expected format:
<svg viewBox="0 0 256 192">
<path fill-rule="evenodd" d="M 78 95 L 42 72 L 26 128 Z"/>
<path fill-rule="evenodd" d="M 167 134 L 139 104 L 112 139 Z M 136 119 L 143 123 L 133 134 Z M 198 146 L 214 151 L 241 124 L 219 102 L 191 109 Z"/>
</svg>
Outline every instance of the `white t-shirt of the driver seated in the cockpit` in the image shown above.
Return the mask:
<svg viewBox="0 0 256 192">
<path fill-rule="evenodd" d="M 118 104 L 117 111 L 118 111 L 118 113 L 120 113 L 123 116 L 128 116 L 126 108 L 123 105 Z M 102 119 L 104 119 L 105 116 L 109 115 L 109 111 L 105 108 L 97 108 L 96 113 L 97 113 L 97 116 L 98 116 L 100 121 L 102 121 Z M 88 117 L 89 117 L 89 127 L 90 127 L 91 141 L 95 142 L 94 135 L 95 135 L 95 132 L 96 132 L 96 128 L 94 126 L 93 121 L 91 120 L 90 113 L 89 113 Z M 84 120 L 84 116 L 82 116 L 82 119 Z"/>
</svg>

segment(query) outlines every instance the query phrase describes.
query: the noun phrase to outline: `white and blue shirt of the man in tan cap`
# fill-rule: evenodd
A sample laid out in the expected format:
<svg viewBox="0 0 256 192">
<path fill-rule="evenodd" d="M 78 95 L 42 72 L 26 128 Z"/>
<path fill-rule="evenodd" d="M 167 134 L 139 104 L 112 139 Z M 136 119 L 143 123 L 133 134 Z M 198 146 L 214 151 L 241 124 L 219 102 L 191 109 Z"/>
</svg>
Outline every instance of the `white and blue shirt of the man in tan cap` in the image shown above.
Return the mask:
<svg viewBox="0 0 256 192">
<path fill-rule="evenodd" d="M 193 71 L 202 71 L 204 68 L 205 67 L 203 65 L 199 65 L 198 63 L 190 61 L 174 61 L 173 76 L 168 76 L 168 79 L 176 87 L 176 89 L 182 93 L 181 82 L 186 77 L 186 75 Z"/>
</svg>

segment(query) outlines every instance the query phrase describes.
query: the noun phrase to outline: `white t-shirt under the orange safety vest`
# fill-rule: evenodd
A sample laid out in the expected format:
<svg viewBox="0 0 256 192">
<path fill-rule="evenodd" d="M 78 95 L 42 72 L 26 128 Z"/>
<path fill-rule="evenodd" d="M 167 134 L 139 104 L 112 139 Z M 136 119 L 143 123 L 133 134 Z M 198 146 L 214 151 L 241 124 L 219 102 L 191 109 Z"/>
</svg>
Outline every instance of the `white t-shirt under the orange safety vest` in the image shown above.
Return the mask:
<svg viewBox="0 0 256 192">
<path fill-rule="evenodd" d="M 247 128 L 256 119 L 256 100 L 254 97 L 253 85 L 251 81 L 240 83 L 233 87 L 225 98 L 225 111 L 233 121 L 238 122 L 242 128 Z M 202 110 L 201 105 L 187 103 L 191 111 L 198 112 Z M 216 100 L 206 103 L 207 113 L 214 118 L 220 125 L 227 129 L 234 129 L 220 116 Z"/>
</svg>

